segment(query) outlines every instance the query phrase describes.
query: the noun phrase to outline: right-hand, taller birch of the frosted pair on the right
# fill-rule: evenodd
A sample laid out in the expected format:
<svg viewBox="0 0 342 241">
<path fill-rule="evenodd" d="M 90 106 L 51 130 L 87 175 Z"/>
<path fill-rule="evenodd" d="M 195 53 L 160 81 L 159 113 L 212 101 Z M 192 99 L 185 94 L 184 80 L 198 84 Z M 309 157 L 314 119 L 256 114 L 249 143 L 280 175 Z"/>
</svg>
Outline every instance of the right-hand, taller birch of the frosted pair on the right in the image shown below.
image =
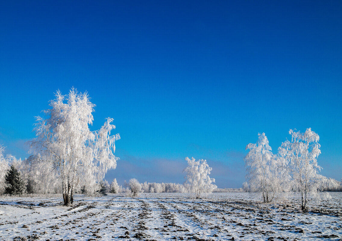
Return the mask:
<svg viewBox="0 0 342 241">
<path fill-rule="evenodd" d="M 305 210 L 309 195 L 319 197 L 318 192 L 324 186 L 334 186 L 336 183 L 318 174 L 321 170 L 317 164 L 317 157 L 321 153 L 318 134 L 311 128 L 304 133 L 290 129 L 289 134 L 292 137 L 291 142 L 283 142 L 279 147 L 279 154 L 288 162 L 292 189 L 301 193 L 301 208 Z"/>
</svg>

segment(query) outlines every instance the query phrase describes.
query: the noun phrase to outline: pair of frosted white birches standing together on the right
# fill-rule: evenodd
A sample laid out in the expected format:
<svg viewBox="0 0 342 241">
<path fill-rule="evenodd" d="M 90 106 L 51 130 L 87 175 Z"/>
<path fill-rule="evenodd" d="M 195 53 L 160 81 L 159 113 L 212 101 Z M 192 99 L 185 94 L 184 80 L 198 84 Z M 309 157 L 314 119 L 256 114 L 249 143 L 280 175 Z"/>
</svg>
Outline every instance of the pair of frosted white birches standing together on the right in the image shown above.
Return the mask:
<svg viewBox="0 0 342 241">
<path fill-rule="evenodd" d="M 319 136 L 311 128 L 305 132 L 290 130 L 291 141 L 286 140 L 273 154 L 265 133 L 259 133 L 257 143 L 246 146 L 244 158 L 247 168 L 244 188 L 261 192 L 264 202 L 271 202 L 279 193 L 299 192 L 301 208 L 306 209 L 309 196 L 336 182 L 320 175 L 317 164 L 320 152 Z"/>
</svg>

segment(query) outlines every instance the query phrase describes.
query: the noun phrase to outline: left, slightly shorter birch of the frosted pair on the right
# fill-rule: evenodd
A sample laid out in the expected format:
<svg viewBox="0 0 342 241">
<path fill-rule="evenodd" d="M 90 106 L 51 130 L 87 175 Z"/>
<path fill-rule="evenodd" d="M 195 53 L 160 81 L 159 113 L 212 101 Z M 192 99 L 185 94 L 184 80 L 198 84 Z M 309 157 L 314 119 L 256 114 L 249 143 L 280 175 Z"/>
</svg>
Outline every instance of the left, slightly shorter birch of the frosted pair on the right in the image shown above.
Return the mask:
<svg viewBox="0 0 342 241">
<path fill-rule="evenodd" d="M 249 143 L 246 150 L 249 150 L 245 156 L 245 167 L 247 168 L 246 180 L 244 188 L 252 192 L 260 191 L 263 201 L 271 202 L 280 188 L 280 180 L 278 178 L 278 161 L 279 159 L 273 155 L 272 148 L 268 144 L 265 133 L 258 134 L 257 143 Z"/>
</svg>

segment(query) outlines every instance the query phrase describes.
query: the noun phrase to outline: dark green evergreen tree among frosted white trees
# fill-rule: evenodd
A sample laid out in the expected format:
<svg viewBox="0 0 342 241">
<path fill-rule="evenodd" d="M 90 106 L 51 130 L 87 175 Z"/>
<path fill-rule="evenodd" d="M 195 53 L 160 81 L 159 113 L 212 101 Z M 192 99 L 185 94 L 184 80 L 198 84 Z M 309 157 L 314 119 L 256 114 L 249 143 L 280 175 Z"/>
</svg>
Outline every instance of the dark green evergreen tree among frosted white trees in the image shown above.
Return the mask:
<svg viewBox="0 0 342 241">
<path fill-rule="evenodd" d="M 26 193 L 26 186 L 22 175 L 13 165 L 11 165 L 10 170 L 5 176 L 5 183 L 8 184 L 5 188 L 5 194 L 21 195 Z"/>
</svg>

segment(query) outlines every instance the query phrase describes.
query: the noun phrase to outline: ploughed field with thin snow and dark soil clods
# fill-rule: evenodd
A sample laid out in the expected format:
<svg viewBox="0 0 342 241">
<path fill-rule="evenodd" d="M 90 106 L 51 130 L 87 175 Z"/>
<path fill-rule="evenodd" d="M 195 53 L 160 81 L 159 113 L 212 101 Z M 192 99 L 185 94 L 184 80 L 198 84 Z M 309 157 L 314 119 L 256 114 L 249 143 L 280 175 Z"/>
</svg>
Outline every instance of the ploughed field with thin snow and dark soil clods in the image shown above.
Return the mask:
<svg viewBox="0 0 342 241">
<path fill-rule="evenodd" d="M 76 196 L 71 208 L 61 197 L 1 198 L 0 240 L 340 240 L 342 193 L 331 196 L 309 213 L 248 193 Z"/>
</svg>

